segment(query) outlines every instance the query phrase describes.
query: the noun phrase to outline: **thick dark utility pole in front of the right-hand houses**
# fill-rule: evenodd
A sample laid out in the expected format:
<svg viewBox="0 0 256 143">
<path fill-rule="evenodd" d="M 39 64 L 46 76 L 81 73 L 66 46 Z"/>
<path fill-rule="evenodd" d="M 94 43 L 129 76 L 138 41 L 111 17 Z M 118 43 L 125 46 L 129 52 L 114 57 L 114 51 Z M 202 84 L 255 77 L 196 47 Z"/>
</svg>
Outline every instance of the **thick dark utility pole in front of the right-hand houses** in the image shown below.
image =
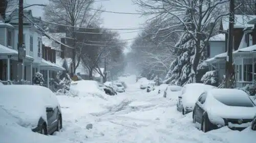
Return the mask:
<svg viewBox="0 0 256 143">
<path fill-rule="evenodd" d="M 229 1 L 229 25 L 228 25 L 228 42 L 227 42 L 227 59 L 225 88 L 232 88 L 233 70 L 233 26 L 234 26 L 234 0 Z"/>
</svg>

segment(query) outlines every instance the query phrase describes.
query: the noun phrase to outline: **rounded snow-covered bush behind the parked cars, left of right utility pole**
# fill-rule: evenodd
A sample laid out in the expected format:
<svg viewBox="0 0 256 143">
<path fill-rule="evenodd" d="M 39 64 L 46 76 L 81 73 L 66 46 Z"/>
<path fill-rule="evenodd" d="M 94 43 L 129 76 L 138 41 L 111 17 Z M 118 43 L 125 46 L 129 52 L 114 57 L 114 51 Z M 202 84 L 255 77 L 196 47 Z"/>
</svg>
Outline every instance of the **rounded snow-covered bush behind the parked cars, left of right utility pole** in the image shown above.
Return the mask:
<svg viewBox="0 0 256 143">
<path fill-rule="evenodd" d="M 216 70 L 206 72 L 201 78 L 201 81 L 204 84 L 214 85 L 217 87 L 219 84 L 218 72 Z"/>
</svg>

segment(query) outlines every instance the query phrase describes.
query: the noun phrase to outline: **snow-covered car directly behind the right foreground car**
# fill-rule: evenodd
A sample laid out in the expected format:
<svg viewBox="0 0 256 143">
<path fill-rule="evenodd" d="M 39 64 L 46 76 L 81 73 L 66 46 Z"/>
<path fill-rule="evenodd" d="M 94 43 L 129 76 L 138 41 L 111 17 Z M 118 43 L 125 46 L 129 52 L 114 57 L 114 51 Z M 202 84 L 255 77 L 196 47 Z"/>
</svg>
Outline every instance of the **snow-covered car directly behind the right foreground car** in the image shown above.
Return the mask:
<svg viewBox="0 0 256 143">
<path fill-rule="evenodd" d="M 181 95 L 177 101 L 177 110 L 183 115 L 193 111 L 198 97 L 205 91 L 216 87 L 203 83 L 189 83 L 182 87 Z"/>
</svg>

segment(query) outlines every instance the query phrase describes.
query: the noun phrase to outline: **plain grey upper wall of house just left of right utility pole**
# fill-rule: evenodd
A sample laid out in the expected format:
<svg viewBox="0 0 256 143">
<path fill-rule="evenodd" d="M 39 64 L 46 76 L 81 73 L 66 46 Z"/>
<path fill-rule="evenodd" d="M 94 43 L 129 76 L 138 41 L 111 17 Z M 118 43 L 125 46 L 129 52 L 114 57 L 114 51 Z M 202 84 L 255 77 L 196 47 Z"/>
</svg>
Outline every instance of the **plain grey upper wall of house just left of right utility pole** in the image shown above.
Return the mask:
<svg viewBox="0 0 256 143">
<path fill-rule="evenodd" d="M 223 52 L 225 52 L 225 41 L 215 41 L 215 42 L 209 42 L 210 45 L 210 57 L 209 58 L 214 58 L 215 55 L 217 54 L 221 54 Z"/>
</svg>

